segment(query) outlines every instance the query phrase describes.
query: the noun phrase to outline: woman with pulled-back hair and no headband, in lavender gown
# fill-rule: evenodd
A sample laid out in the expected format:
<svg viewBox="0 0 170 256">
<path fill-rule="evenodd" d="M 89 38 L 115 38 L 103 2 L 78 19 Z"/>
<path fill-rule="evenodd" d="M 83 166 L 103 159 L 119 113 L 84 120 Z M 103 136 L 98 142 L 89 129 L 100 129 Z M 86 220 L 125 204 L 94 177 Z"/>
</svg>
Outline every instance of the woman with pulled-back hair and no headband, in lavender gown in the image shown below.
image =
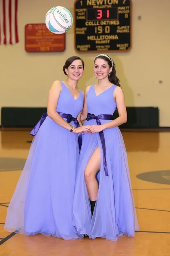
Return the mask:
<svg viewBox="0 0 170 256">
<path fill-rule="evenodd" d="M 77 84 L 84 62 L 70 57 L 63 71 L 68 79 L 53 83 L 47 113 L 30 133 L 34 139 L 8 207 L 7 231 L 79 238 L 72 226 L 72 208 L 80 135 L 89 129 L 79 125 L 83 92 Z"/>
</svg>

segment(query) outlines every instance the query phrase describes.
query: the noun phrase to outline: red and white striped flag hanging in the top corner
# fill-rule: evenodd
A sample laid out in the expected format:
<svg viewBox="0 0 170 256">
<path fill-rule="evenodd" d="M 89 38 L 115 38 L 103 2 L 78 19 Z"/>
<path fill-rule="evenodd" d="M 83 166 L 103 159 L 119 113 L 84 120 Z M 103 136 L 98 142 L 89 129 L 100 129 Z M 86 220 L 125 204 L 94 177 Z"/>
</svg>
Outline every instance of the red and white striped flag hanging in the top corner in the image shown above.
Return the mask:
<svg viewBox="0 0 170 256">
<path fill-rule="evenodd" d="M 18 40 L 18 0 L 0 0 L 0 44 L 16 44 Z"/>
</svg>

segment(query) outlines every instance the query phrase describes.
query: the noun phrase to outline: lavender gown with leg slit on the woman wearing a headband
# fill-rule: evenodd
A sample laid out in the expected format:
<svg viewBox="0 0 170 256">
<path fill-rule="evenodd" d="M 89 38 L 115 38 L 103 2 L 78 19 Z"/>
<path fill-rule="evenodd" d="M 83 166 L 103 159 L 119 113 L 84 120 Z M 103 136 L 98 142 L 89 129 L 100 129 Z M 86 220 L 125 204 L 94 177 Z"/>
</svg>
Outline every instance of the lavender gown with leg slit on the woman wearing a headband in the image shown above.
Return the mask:
<svg viewBox="0 0 170 256">
<path fill-rule="evenodd" d="M 85 125 L 112 121 L 116 110 L 113 93 L 116 85 L 98 96 L 92 85 L 87 94 L 89 121 Z M 106 115 L 103 117 L 103 115 Z M 100 116 L 101 115 L 101 116 Z M 98 116 L 98 117 L 97 117 Z M 103 120 L 105 118 L 106 120 Z M 85 184 L 84 171 L 90 156 L 99 146 L 101 152 L 100 171 L 97 175 L 99 190 L 91 216 L 89 196 Z M 134 237 L 139 225 L 134 207 L 127 153 L 123 137 L 118 127 L 103 130 L 103 133 L 83 135 L 81 153 L 78 162 L 76 186 L 73 204 L 73 225 L 83 238 L 106 238 L 117 240 L 120 235 Z"/>
</svg>

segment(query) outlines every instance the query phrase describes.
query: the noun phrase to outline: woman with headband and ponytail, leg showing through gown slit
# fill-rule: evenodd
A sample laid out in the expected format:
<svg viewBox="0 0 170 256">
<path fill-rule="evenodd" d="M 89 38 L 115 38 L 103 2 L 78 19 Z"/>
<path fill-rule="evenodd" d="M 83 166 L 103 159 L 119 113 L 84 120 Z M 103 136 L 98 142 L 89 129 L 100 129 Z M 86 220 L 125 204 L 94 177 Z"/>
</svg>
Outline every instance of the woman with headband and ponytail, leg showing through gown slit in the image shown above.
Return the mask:
<svg viewBox="0 0 170 256">
<path fill-rule="evenodd" d="M 139 225 L 127 153 L 118 128 L 127 121 L 123 91 L 109 56 L 95 58 L 94 75 L 98 81 L 85 90 L 81 116 L 91 128 L 83 136 L 78 162 L 73 225 L 81 238 L 134 237 Z M 119 117 L 113 120 L 116 109 Z"/>
</svg>

